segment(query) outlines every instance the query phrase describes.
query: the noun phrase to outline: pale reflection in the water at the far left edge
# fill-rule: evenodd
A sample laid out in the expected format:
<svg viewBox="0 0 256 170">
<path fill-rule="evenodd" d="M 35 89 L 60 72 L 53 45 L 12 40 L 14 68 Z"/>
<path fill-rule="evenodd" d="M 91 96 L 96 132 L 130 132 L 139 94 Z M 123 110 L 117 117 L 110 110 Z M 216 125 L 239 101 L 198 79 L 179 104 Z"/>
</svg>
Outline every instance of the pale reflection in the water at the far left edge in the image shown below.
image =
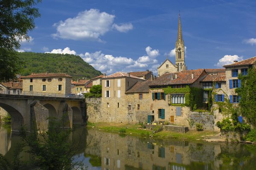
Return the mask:
<svg viewBox="0 0 256 170">
<path fill-rule="evenodd" d="M 11 148 L 11 134 L 10 132 L 0 126 L 0 153 L 5 155 Z"/>
</svg>

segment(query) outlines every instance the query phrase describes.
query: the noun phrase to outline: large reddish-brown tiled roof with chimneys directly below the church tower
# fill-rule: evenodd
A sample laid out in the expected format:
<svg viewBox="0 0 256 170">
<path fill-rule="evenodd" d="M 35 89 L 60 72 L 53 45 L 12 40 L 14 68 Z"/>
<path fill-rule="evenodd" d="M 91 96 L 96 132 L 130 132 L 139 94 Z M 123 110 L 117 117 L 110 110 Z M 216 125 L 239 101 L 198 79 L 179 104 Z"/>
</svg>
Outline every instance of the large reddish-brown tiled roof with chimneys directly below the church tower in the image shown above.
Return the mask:
<svg viewBox="0 0 256 170">
<path fill-rule="evenodd" d="M 150 86 L 193 84 L 196 80 L 198 80 L 203 72 L 205 72 L 204 69 L 185 70 L 178 73 L 166 73 L 154 81 L 151 81 Z M 194 73 L 193 79 L 191 76 L 192 73 Z M 175 74 L 177 74 L 177 79 L 175 79 Z M 171 76 L 174 78 L 173 80 L 171 80 Z"/>
</svg>

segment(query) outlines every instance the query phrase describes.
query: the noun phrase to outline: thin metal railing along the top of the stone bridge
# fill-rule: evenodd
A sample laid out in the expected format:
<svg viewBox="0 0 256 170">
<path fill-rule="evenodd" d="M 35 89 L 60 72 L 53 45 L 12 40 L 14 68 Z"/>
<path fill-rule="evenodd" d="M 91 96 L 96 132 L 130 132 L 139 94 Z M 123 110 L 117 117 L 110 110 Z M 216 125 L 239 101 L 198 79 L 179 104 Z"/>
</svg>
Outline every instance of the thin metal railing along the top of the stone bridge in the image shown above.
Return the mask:
<svg viewBox="0 0 256 170">
<path fill-rule="evenodd" d="M 81 99 L 84 98 L 83 95 L 76 95 L 76 94 L 56 94 L 56 93 L 42 93 L 42 92 L 35 92 L 35 91 L 19 91 L 19 90 L 0 90 L 0 94 L 7 94 L 7 95 L 24 95 L 24 96 L 44 96 L 44 97 L 61 97 L 61 98 L 74 98 L 74 99 Z"/>
</svg>

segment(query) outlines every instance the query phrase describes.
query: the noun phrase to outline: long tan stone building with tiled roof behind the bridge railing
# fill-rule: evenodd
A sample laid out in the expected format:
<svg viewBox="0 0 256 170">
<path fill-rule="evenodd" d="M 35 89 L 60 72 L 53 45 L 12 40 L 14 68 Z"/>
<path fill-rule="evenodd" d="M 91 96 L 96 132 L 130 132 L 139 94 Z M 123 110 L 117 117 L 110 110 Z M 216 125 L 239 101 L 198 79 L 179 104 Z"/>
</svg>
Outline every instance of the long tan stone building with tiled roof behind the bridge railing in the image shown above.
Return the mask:
<svg viewBox="0 0 256 170">
<path fill-rule="evenodd" d="M 23 91 L 71 94 L 71 76 L 66 73 L 39 73 L 21 77 Z"/>
</svg>

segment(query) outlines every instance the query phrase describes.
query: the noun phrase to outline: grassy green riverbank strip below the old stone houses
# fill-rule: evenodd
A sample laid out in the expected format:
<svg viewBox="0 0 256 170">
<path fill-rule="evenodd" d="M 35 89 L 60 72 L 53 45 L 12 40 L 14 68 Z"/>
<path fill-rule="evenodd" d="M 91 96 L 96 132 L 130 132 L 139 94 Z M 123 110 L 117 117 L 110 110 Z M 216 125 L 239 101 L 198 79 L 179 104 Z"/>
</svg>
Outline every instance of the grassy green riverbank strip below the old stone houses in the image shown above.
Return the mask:
<svg viewBox="0 0 256 170">
<path fill-rule="evenodd" d="M 87 127 L 94 128 L 109 133 L 119 133 L 122 135 L 149 137 L 153 130 L 145 130 L 141 125 L 125 125 L 122 123 L 88 123 Z M 154 133 L 153 138 L 157 139 L 184 139 L 184 140 L 201 140 L 201 136 L 214 136 L 217 132 L 213 131 L 196 131 L 190 130 L 187 133 L 175 133 L 170 131 L 161 131 Z"/>
</svg>

